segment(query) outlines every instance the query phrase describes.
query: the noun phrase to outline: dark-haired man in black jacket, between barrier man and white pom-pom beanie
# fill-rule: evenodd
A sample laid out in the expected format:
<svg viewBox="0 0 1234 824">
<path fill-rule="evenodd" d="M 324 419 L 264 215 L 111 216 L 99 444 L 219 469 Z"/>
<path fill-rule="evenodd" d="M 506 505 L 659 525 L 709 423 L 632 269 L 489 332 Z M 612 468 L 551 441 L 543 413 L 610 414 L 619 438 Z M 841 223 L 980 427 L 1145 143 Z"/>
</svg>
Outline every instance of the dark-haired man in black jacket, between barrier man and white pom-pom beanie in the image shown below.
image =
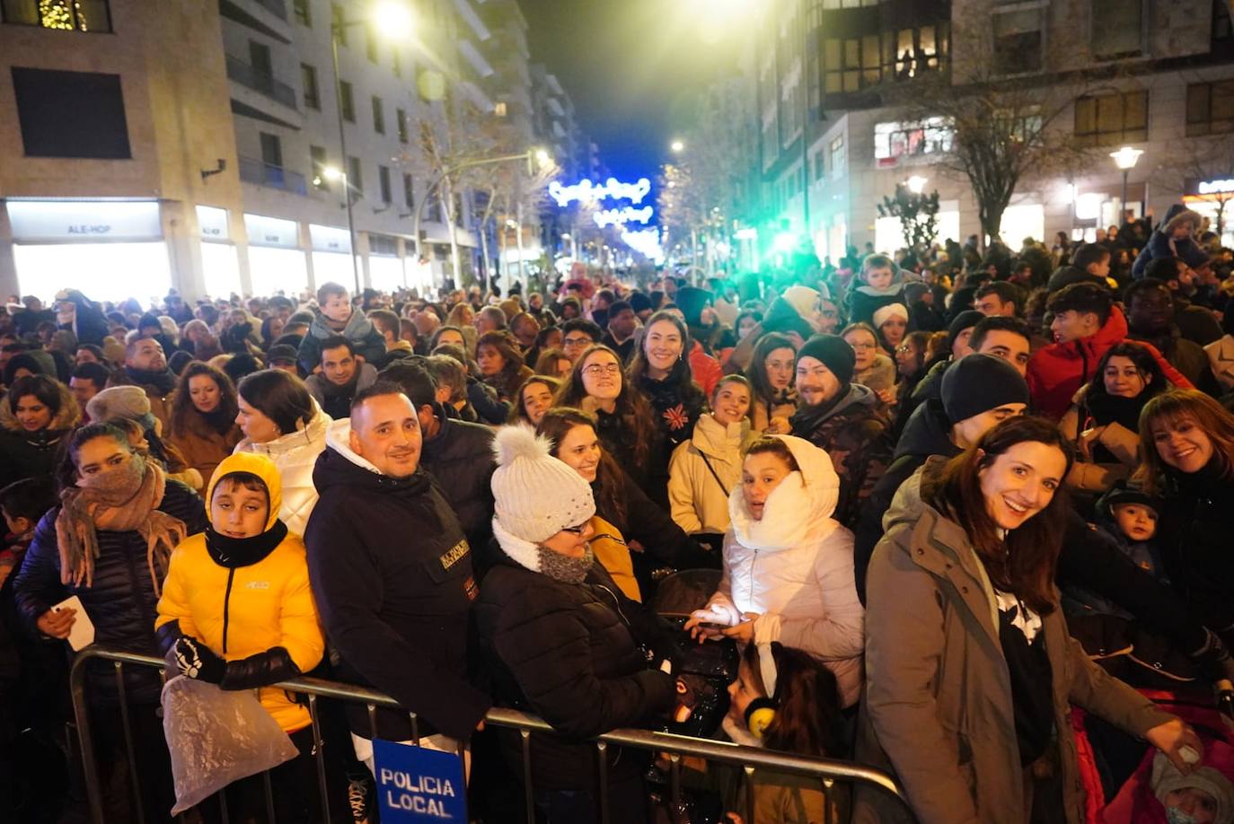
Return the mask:
<svg viewBox="0 0 1234 824">
<path fill-rule="evenodd" d="M 424 438 L 420 463 L 458 516 L 466 543 L 475 553 L 471 562 L 482 577 L 492 564 L 489 558 L 492 538 L 489 481 L 497 466 L 492 460 L 492 429 L 448 417 L 437 401 L 437 381 L 418 364 L 391 364 L 381 370 L 380 377 L 397 384 L 416 407 Z"/>
</svg>

